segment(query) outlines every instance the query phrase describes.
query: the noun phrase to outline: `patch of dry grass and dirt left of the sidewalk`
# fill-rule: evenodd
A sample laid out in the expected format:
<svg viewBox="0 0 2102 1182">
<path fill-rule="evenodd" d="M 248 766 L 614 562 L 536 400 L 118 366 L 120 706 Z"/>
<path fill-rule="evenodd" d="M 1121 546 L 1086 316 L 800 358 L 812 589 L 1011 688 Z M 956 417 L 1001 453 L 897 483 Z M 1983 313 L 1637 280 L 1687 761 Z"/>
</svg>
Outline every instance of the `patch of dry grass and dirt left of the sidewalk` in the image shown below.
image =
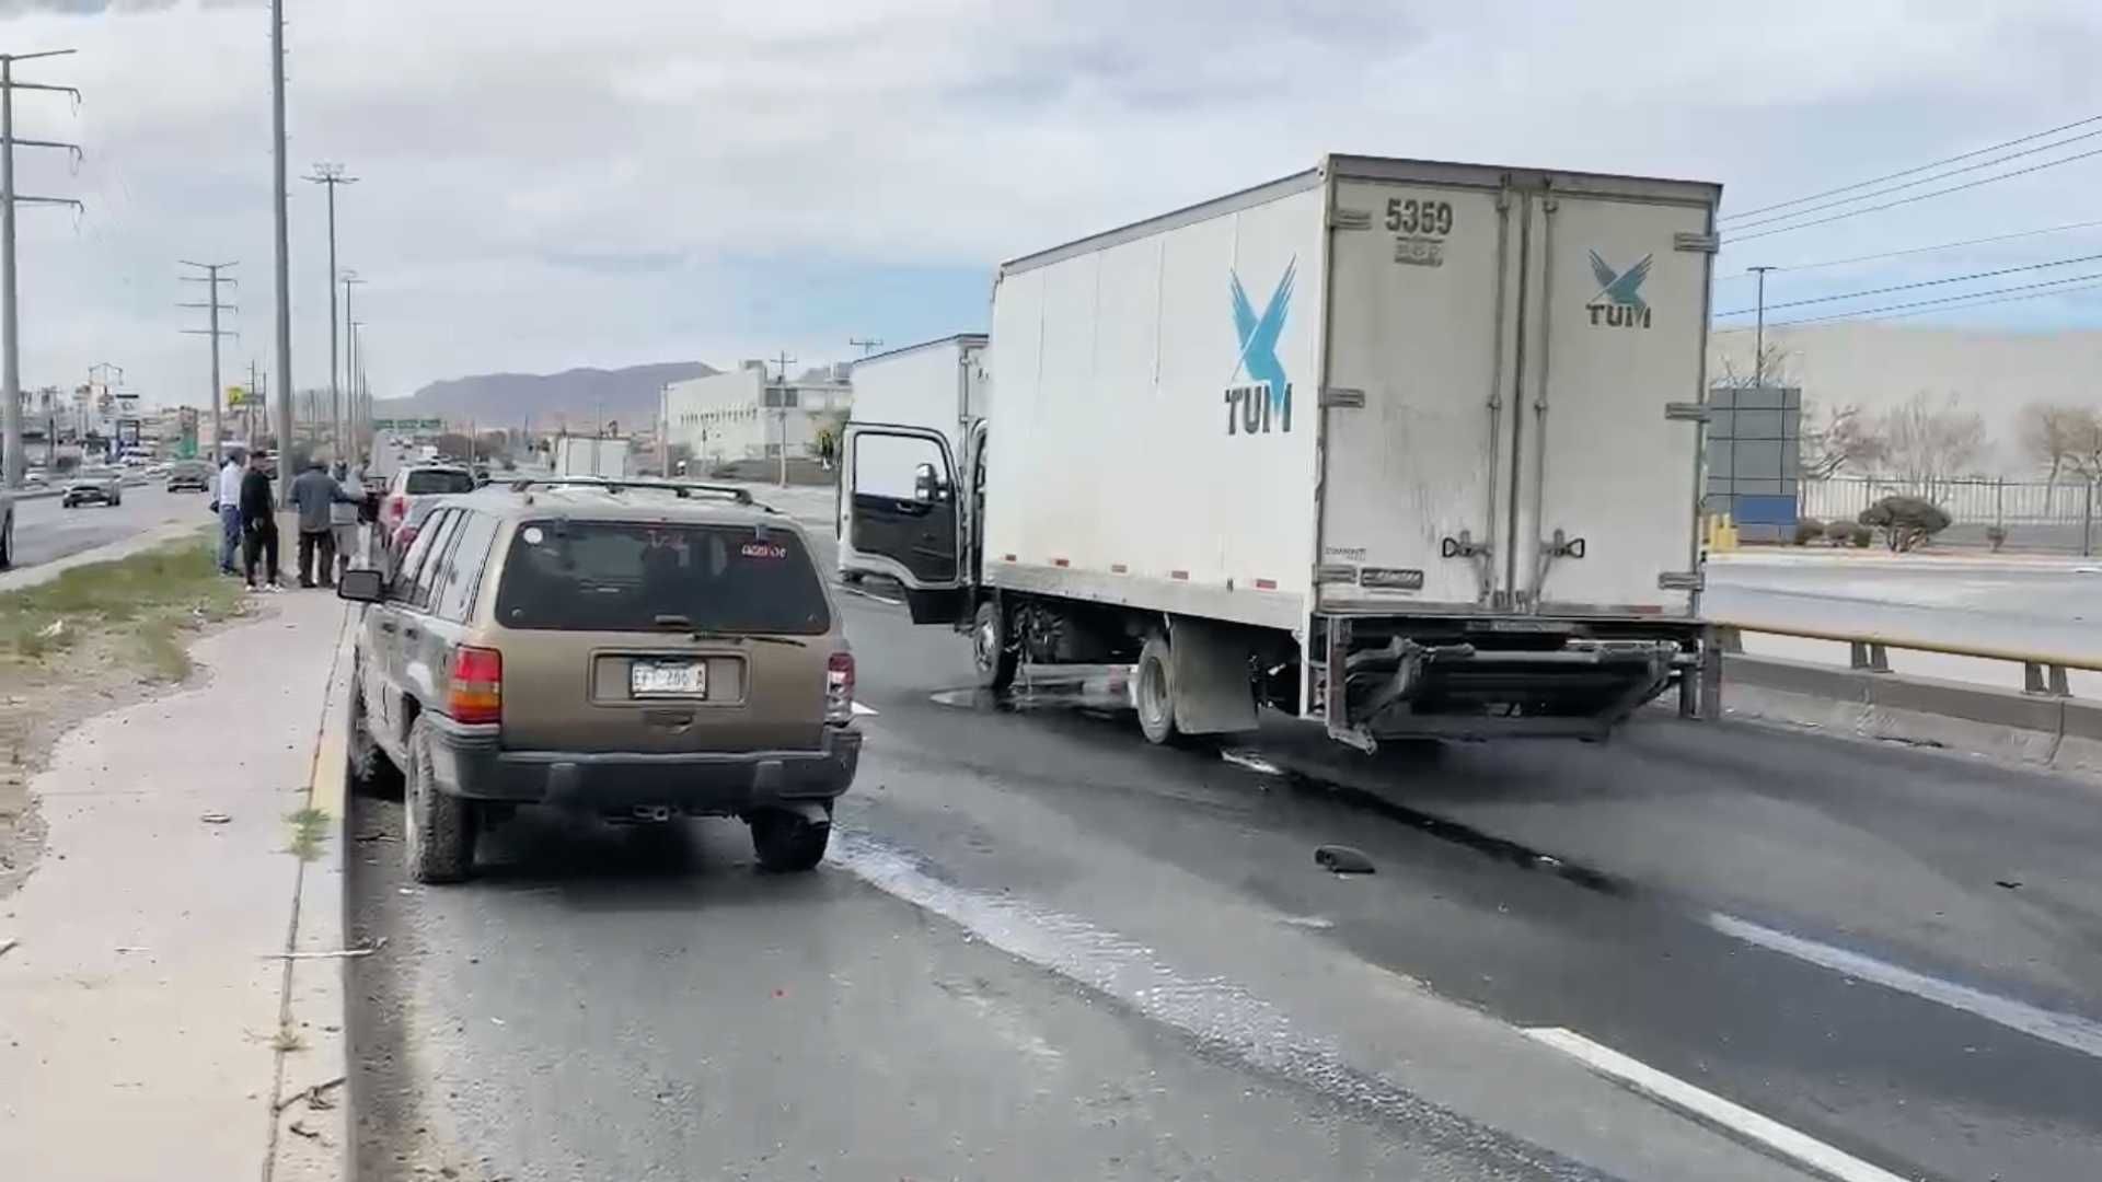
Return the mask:
<svg viewBox="0 0 2102 1182">
<path fill-rule="evenodd" d="M 198 633 L 254 614 L 208 543 L 185 538 L 0 593 L 0 898 L 36 864 L 29 778 L 61 734 L 181 686 Z"/>
</svg>

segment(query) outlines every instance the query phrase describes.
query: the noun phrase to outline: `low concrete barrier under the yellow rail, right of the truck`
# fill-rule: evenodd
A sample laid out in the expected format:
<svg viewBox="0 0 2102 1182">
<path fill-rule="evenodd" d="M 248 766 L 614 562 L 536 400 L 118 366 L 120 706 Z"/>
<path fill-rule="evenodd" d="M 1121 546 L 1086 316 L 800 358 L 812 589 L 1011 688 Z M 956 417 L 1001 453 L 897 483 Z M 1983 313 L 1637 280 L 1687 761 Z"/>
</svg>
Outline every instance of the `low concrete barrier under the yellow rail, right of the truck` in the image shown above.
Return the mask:
<svg viewBox="0 0 2102 1182">
<path fill-rule="evenodd" d="M 1724 713 L 2102 776 L 2102 705 L 1776 656 L 1724 656 Z"/>
</svg>

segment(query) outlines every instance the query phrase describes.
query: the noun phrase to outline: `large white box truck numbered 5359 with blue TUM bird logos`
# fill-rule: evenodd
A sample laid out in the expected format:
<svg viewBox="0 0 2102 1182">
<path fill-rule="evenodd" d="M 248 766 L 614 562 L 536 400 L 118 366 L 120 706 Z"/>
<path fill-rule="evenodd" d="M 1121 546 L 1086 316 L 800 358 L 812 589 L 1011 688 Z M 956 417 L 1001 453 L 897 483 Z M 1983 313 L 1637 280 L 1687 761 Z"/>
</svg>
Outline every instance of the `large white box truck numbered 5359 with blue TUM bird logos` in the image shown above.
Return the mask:
<svg viewBox="0 0 2102 1182">
<path fill-rule="evenodd" d="M 1705 713 L 1719 196 L 1331 156 L 1015 259 L 992 414 L 961 450 L 849 425 L 843 549 L 988 686 L 1129 663 L 1156 742 L 1263 705 L 1362 749 Z M 910 490 L 860 482 L 906 450 Z"/>
</svg>

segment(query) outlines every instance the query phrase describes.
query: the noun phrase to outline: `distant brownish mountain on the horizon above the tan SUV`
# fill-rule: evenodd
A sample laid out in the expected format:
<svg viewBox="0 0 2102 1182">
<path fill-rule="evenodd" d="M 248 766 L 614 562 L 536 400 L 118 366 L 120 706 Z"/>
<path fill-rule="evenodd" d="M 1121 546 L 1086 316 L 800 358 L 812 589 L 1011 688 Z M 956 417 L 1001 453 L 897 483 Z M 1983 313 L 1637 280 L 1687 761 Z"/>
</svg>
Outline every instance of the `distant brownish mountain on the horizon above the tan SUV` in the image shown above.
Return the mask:
<svg viewBox="0 0 2102 1182">
<path fill-rule="evenodd" d="M 408 398 L 372 404 L 374 419 L 477 421 L 483 427 L 517 427 L 532 419 L 536 431 L 555 429 L 559 419 L 589 429 L 597 416 L 612 423 L 645 425 L 656 416 L 664 383 L 708 376 L 700 362 L 658 362 L 624 370 L 563 370 L 559 374 L 473 374 L 435 381 Z"/>
</svg>

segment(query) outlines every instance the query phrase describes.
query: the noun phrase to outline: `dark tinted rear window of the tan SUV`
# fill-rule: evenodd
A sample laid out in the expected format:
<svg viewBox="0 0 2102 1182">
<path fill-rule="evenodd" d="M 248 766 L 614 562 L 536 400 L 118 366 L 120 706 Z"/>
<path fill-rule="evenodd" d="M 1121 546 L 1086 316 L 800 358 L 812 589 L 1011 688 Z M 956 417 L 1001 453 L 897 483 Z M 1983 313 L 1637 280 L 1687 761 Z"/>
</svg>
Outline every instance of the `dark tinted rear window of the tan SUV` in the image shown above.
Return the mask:
<svg viewBox="0 0 2102 1182">
<path fill-rule="evenodd" d="M 511 629 L 820 635 L 832 627 L 801 538 L 750 526 L 519 522 L 496 591 Z"/>
</svg>

